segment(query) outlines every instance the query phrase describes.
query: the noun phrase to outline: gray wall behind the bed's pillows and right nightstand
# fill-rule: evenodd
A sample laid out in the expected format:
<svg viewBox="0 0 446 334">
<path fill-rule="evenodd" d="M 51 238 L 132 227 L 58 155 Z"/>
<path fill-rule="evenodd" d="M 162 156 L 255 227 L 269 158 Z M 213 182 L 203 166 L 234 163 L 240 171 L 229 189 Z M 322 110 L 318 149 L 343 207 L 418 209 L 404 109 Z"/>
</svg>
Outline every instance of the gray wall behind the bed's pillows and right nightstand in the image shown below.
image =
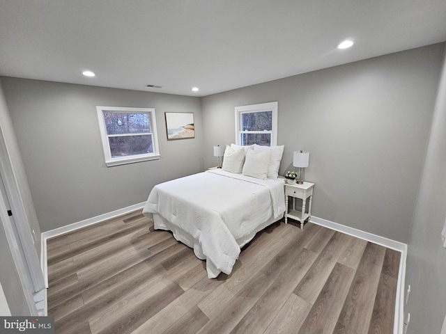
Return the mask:
<svg viewBox="0 0 446 334">
<path fill-rule="evenodd" d="M 278 101 L 280 173 L 293 168 L 293 150 L 310 151 L 313 215 L 407 243 L 442 52 L 431 45 L 203 97 L 204 150 L 235 141 L 234 106 Z"/>
</svg>

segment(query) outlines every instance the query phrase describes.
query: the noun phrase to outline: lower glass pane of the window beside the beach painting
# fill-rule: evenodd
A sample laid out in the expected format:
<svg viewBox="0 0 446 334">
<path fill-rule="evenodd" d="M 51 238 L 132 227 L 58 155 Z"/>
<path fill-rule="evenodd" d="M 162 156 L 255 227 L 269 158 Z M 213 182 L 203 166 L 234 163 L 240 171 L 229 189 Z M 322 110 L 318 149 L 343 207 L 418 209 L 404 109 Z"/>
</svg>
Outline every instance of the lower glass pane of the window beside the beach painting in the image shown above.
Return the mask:
<svg viewBox="0 0 446 334">
<path fill-rule="evenodd" d="M 112 158 L 153 153 L 152 135 L 109 137 Z"/>
</svg>

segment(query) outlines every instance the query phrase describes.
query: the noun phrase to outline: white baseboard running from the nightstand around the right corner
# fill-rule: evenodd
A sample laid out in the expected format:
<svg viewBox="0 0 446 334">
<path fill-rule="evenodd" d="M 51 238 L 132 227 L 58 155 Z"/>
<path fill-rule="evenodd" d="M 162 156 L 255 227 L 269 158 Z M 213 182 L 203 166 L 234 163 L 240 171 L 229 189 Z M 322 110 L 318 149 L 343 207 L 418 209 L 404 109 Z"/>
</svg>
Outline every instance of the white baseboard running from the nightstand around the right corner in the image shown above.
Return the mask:
<svg viewBox="0 0 446 334">
<path fill-rule="evenodd" d="M 384 246 L 386 248 L 391 248 L 393 250 L 398 250 L 401 252 L 401 260 L 399 261 L 399 273 L 398 273 L 398 283 L 397 283 L 397 302 L 395 303 L 395 319 L 394 319 L 394 334 L 403 333 L 403 318 L 404 318 L 404 287 L 406 280 L 406 258 L 407 258 L 407 245 L 399 241 L 394 241 L 392 239 L 387 239 L 385 237 L 380 237 L 376 234 L 371 234 L 369 232 L 364 232 L 357 230 L 355 228 L 350 228 L 346 225 L 341 225 L 334 223 L 332 221 L 327 221 L 323 218 L 318 218 L 312 216 L 310 221 L 314 224 L 324 226 L 325 228 L 330 228 L 331 230 L 336 230 L 353 237 L 364 239 L 374 244 Z"/>
</svg>

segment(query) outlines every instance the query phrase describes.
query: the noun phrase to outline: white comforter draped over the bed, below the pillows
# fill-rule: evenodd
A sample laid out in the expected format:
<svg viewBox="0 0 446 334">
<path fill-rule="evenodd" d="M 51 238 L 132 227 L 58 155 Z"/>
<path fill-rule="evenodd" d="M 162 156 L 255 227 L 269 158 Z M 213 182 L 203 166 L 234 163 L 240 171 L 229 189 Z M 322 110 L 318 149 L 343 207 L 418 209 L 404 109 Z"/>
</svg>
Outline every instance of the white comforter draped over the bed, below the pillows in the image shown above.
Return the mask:
<svg viewBox="0 0 446 334">
<path fill-rule="evenodd" d="M 171 230 L 206 259 L 209 278 L 231 273 L 240 247 L 284 211 L 284 180 L 258 180 L 224 170 L 157 184 L 143 210 L 154 218 L 155 229 Z"/>
</svg>

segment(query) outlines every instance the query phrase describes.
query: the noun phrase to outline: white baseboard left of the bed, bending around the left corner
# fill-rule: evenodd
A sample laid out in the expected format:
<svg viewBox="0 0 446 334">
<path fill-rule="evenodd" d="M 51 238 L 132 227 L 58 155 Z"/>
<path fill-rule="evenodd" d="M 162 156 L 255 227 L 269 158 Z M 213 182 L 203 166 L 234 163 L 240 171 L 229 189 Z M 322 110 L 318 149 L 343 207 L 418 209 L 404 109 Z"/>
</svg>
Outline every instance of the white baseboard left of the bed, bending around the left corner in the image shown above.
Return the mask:
<svg viewBox="0 0 446 334">
<path fill-rule="evenodd" d="M 47 239 L 58 237 L 61 234 L 66 234 L 79 228 L 85 228 L 86 226 L 101 223 L 102 221 L 107 221 L 123 214 L 129 214 L 138 209 L 142 209 L 146 205 L 146 202 L 141 202 L 139 204 L 130 205 L 130 207 L 124 207 L 123 209 L 118 209 L 107 214 L 101 214 L 100 216 L 95 216 L 92 218 L 85 219 L 84 221 L 78 221 L 77 223 L 72 223 L 70 225 L 62 226 L 61 228 L 55 228 L 54 230 L 49 230 L 41 234 L 41 247 L 40 247 L 40 267 L 43 271 L 43 276 L 45 277 L 45 286 L 48 288 L 48 270 L 47 270 Z"/>
</svg>

